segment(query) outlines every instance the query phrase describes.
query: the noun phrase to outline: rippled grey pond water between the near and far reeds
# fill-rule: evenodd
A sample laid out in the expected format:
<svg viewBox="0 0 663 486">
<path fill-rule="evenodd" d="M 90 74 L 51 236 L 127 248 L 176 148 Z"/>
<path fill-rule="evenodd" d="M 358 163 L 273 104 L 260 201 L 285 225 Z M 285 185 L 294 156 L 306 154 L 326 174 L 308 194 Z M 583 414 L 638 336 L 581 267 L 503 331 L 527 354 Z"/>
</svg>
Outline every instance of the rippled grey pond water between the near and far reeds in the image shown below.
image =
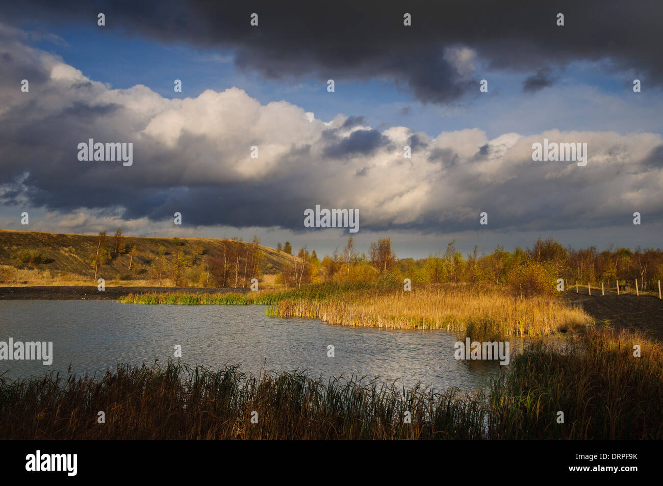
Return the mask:
<svg viewBox="0 0 663 486">
<path fill-rule="evenodd" d="M 53 363 L 0 361 L 5 377 L 50 370 L 94 373 L 116 363 L 161 362 L 182 346 L 182 361 L 240 365 L 257 374 L 306 369 L 314 377 L 398 379 L 436 389 L 475 389 L 499 365 L 453 358 L 455 335 L 329 326 L 265 316 L 265 306 L 145 306 L 103 300 L 0 302 L 0 341 L 53 341 Z M 328 357 L 328 345 L 335 356 Z"/>
</svg>

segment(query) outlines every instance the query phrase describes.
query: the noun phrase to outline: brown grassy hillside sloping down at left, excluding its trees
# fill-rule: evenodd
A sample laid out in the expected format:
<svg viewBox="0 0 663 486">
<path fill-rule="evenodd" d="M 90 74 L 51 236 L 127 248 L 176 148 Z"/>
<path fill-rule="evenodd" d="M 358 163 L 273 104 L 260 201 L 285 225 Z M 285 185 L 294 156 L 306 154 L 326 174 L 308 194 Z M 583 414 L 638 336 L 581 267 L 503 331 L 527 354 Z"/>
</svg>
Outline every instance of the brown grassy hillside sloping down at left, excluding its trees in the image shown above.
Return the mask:
<svg viewBox="0 0 663 486">
<path fill-rule="evenodd" d="M 90 284 L 95 274 L 93 259 L 97 254 L 97 245 L 97 235 L 0 229 L 0 284 Z M 132 257 L 134 245 L 136 249 Z M 296 261 L 296 257 L 273 248 L 213 238 L 123 236 L 116 252 L 114 237 L 109 234 L 101 245 L 106 249 L 107 257 L 101 259 L 97 277 L 105 278 L 107 284 L 168 286 L 173 284 L 173 268 L 179 262 L 181 276 L 176 278 L 182 278 L 182 286 L 211 285 L 213 282 L 207 271 L 213 265 L 209 264 L 214 257 L 220 256 L 222 261 L 224 245 L 227 266 L 230 267 L 229 262 L 234 265 L 229 286 L 235 286 L 235 270 L 237 286 L 245 286 L 241 280 L 244 280 L 245 263 L 253 265 L 251 249 L 259 249 L 263 256 L 255 260 L 258 262 L 255 265 L 256 276 L 260 280 L 263 276 L 273 280 L 270 275 L 280 273 L 286 265 Z M 248 263 L 246 266 L 249 266 Z"/>
</svg>

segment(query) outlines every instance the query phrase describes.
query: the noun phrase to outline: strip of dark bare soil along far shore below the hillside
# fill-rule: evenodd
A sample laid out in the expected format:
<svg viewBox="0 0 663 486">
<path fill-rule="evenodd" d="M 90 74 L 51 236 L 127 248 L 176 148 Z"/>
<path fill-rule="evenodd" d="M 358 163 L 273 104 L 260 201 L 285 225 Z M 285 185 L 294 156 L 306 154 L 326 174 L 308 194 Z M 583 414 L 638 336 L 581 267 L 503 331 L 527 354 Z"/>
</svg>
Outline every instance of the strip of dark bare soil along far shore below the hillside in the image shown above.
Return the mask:
<svg viewBox="0 0 663 486">
<path fill-rule="evenodd" d="M 40 286 L 0 287 L 0 300 L 117 300 L 127 294 L 155 294 L 158 292 L 248 292 L 248 288 L 197 288 L 197 287 L 106 287 L 96 286 Z"/>
</svg>

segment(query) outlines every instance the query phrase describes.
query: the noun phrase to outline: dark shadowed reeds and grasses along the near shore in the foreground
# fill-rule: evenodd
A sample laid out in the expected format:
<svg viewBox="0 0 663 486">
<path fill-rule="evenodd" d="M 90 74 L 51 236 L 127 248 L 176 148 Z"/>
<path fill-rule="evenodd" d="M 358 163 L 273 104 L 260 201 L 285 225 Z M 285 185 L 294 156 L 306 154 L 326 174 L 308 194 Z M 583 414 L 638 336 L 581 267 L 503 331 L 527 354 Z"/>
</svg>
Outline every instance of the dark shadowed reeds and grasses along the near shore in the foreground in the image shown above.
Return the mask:
<svg viewBox="0 0 663 486">
<path fill-rule="evenodd" d="M 533 345 L 472 394 L 178 363 L 0 379 L 2 439 L 661 439 L 662 410 L 659 345 L 595 330 Z"/>
</svg>

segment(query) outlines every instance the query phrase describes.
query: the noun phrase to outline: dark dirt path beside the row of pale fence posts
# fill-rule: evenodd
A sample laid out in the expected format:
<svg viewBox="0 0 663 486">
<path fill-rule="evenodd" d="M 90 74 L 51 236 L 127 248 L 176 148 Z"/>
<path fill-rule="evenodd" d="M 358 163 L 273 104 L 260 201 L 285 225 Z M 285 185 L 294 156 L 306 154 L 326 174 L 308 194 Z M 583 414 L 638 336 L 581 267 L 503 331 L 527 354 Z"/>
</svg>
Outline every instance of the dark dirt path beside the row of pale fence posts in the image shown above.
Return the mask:
<svg viewBox="0 0 663 486">
<path fill-rule="evenodd" d="M 594 293 L 592 291 L 592 293 Z M 616 329 L 640 330 L 663 341 L 663 300 L 650 295 L 606 294 L 601 296 L 566 293 L 566 299 L 577 302 L 598 324 Z"/>
</svg>

